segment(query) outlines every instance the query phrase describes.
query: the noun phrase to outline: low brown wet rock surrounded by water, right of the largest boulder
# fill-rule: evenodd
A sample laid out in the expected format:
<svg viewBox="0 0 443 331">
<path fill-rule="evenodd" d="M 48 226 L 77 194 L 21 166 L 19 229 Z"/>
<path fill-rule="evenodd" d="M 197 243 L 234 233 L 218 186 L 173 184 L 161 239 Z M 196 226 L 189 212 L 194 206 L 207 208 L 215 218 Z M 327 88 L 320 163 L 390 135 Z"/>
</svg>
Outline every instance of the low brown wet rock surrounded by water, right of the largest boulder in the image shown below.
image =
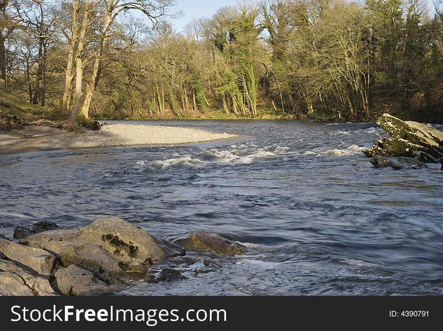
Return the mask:
<svg viewBox="0 0 443 331">
<path fill-rule="evenodd" d="M 188 251 L 209 252 L 223 256 L 234 256 L 246 253 L 246 247 L 216 233 L 196 231 L 189 236 L 179 238 L 175 244 Z"/>
</svg>

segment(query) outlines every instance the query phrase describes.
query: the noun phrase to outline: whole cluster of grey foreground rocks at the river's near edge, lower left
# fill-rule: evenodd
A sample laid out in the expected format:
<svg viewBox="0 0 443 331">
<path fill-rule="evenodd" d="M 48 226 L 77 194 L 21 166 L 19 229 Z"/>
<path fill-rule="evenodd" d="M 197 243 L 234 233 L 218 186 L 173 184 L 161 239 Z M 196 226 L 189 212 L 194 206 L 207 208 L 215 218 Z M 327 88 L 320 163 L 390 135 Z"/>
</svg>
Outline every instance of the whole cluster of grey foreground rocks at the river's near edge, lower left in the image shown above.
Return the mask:
<svg viewBox="0 0 443 331">
<path fill-rule="evenodd" d="M 0 239 L 0 295 L 110 295 L 115 288 L 108 284 L 130 277 L 169 282 L 222 265 L 185 256 L 185 249 L 230 257 L 246 252 L 245 246 L 205 231 L 173 243 L 120 217 L 99 218 L 81 229 L 44 231 L 55 227 L 50 222 L 17 227 L 15 237 L 31 233 L 20 244 Z"/>
</svg>

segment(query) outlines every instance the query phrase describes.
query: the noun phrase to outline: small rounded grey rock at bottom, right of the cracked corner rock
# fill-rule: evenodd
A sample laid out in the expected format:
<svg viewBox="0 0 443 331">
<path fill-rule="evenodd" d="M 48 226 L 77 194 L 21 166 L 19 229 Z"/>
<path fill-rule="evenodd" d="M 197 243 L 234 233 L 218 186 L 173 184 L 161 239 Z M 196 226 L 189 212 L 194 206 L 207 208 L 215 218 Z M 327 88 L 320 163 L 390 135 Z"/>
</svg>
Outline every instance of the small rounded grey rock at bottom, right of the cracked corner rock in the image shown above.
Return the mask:
<svg viewBox="0 0 443 331">
<path fill-rule="evenodd" d="M 65 295 L 112 295 L 112 288 L 97 279 L 88 270 L 75 265 L 60 267 L 55 272 L 52 286 Z"/>
</svg>

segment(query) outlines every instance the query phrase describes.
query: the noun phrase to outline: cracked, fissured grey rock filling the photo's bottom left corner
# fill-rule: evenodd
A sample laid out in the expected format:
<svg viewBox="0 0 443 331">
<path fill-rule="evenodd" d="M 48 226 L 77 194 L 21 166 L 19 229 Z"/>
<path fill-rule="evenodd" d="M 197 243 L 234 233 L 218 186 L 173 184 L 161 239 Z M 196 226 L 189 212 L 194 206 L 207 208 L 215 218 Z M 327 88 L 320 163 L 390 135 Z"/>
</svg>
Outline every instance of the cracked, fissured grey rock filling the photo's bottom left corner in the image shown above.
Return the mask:
<svg viewBox="0 0 443 331">
<path fill-rule="evenodd" d="M 0 259 L 0 270 L 3 272 L 13 273 L 16 276 L 22 279 L 22 285 L 27 286 L 32 291 L 32 295 L 56 295 L 54 290 L 52 289 L 49 281 L 46 278 L 32 275 L 30 272 L 26 271 L 23 268 L 20 268 L 18 265 L 14 264 L 11 261 Z M 7 279 L 17 279 L 16 277 L 9 277 L 9 274 L 4 274 Z M 2 276 L 0 275 L 0 283 L 7 283 L 7 281 L 2 280 Z M 24 288 L 19 286 L 14 291 L 22 292 Z M 3 291 L 0 289 L 0 294 Z M 25 290 L 26 292 L 26 290 Z M 28 294 L 16 294 L 16 295 L 28 295 Z"/>
</svg>

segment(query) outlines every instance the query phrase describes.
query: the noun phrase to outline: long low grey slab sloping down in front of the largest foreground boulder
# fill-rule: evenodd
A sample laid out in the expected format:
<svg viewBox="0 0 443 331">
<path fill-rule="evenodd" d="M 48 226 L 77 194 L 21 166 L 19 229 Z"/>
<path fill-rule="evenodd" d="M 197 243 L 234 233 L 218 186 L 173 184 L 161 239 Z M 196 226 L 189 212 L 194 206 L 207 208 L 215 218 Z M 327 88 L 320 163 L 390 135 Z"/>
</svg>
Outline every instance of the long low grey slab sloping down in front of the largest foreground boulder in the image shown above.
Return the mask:
<svg viewBox="0 0 443 331">
<path fill-rule="evenodd" d="M 128 278 L 127 274 L 120 268 L 121 261 L 94 243 L 85 241 L 41 242 L 30 240 L 29 237 L 21 242 L 55 254 L 64 267 L 71 264 L 80 266 L 92 271 L 95 276 L 108 283 L 118 283 Z"/>
</svg>

